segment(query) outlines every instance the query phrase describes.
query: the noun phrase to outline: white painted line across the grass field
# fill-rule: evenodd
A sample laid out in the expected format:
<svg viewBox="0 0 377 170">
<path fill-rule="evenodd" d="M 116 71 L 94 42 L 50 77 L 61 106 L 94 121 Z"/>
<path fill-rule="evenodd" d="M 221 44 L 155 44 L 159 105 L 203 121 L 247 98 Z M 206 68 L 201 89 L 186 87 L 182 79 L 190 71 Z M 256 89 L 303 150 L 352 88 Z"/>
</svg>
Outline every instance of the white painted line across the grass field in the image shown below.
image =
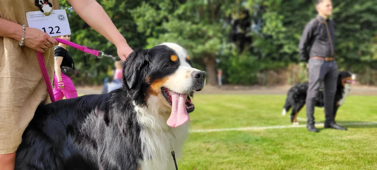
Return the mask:
<svg viewBox="0 0 377 170">
<path fill-rule="evenodd" d="M 377 122 L 355 122 L 355 123 L 342 123 L 342 125 L 370 125 L 377 124 Z M 323 123 L 315 124 L 315 126 L 323 126 Z M 240 128 L 228 128 L 228 129 L 199 129 L 190 130 L 190 133 L 198 132 L 224 132 L 224 131 L 244 131 L 244 130 L 264 130 L 264 129 L 284 129 L 293 127 L 306 127 L 305 125 L 285 125 L 285 126 L 262 126 L 262 127 L 240 127 Z"/>
</svg>

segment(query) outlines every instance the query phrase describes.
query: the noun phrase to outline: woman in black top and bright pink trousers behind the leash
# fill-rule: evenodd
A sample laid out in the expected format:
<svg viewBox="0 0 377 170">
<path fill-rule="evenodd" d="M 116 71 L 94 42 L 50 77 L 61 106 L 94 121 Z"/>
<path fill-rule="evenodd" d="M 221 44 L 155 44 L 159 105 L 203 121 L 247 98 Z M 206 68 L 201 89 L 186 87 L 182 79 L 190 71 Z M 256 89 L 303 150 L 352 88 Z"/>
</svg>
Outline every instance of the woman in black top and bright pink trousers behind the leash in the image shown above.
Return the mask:
<svg viewBox="0 0 377 170">
<path fill-rule="evenodd" d="M 70 35 L 61 35 L 57 38 L 70 41 Z M 75 64 L 66 47 L 67 45 L 62 43 L 55 47 L 54 96 L 56 101 L 63 99 L 64 96 L 66 99 L 77 97 L 76 87 L 68 76 L 68 72 L 75 72 Z M 62 70 L 68 75 L 65 75 Z"/>
</svg>

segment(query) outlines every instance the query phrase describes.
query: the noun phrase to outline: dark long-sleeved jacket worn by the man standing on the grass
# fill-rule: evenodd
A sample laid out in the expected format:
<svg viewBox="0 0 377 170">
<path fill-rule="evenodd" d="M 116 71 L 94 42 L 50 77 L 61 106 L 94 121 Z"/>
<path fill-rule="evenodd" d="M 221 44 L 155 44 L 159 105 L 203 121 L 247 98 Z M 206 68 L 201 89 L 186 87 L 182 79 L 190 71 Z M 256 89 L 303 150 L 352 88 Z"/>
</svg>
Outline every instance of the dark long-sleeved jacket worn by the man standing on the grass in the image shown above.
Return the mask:
<svg viewBox="0 0 377 170">
<path fill-rule="evenodd" d="M 299 43 L 300 60 L 308 62 L 309 57 L 335 57 L 336 24 L 317 16 L 304 28 Z M 310 47 L 310 53 L 307 51 Z"/>
</svg>

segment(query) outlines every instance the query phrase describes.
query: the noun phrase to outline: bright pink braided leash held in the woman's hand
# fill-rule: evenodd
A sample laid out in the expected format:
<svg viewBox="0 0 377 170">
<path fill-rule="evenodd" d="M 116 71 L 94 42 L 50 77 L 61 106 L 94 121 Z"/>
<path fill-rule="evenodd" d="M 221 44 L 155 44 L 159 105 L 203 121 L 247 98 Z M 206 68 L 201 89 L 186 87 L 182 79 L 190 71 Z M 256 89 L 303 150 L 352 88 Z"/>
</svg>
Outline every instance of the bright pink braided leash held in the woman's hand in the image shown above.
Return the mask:
<svg viewBox="0 0 377 170">
<path fill-rule="evenodd" d="M 75 44 L 75 43 L 72 43 L 70 41 L 60 39 L 60 38 L 55 38 L 55 40 L 57 40 L 59 43 L 66 44 L 66 45 L 71 46 L 71 47 L 75 47 L 75 48 L 77 48 L 77 49 L 79 49 L 83 52 L 93 54 L 97 57 L 100 56 L 100 51 L 89 49 L 86 46 L 80 46 L 78 44 Z M 101 53 L 102 53 L 101 55 L 103 55 L 103 52 L 101 52 Z M 55 102 L 55 97 L 54 97 L 54 92 L 52 91 L 51 81 L 50 81 L 50 78 L 48 77 L 46 66 L 44 65 L 43 54 L 38 51 L 37 56 L 38 56 L 38 62 L 39 62 L 39 66 L 41 67 L 41 71 L 42 71 L 44 81 L 46 82 L 47 91 L 48 91 L 50 98 L 51 98 L 51 102 Z"/>
</svg>

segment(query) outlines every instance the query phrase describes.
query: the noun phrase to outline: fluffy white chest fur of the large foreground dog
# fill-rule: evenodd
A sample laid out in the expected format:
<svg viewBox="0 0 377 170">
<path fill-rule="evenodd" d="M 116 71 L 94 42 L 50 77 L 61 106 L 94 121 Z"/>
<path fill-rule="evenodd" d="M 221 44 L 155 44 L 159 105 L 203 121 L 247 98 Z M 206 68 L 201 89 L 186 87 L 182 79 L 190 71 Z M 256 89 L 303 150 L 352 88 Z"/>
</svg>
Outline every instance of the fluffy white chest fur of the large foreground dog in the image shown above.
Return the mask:
<svg viewBox="0 0 377 170">
<path fill-rule="evenodd" d="M 172 150 L 176 159 L 182 156 L 182 145 L 189 133 L 188 123 L 169 128 L 167 116 L 162 116 L 155 110 L 136 108 L 137 118 L 141 123 L 141 149 L 143 160 L 140 160 L 141 170 L 175 170 Z"/>
</svg>

